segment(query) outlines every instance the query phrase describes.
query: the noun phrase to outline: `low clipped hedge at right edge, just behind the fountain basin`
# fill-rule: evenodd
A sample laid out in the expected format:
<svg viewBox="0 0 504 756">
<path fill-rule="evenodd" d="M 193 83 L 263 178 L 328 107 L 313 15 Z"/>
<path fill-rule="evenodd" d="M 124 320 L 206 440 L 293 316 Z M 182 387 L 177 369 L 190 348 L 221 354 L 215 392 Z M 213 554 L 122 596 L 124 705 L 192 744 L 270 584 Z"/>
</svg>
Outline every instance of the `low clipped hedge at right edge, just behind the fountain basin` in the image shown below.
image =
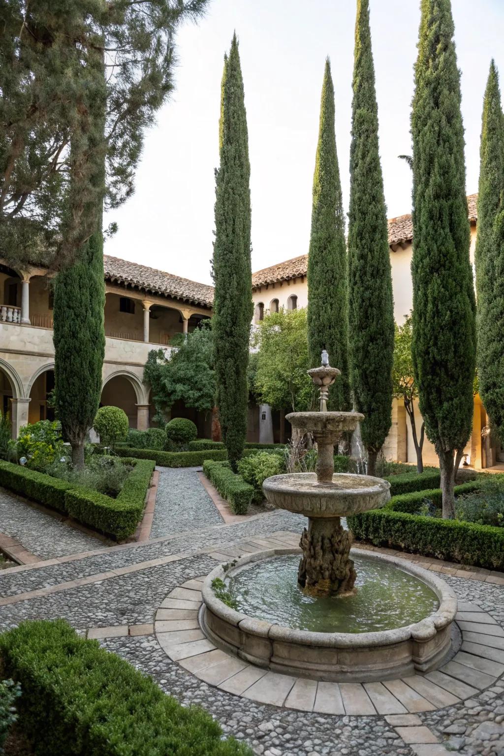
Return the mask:
<svg viewBox="0 0 504 756">
<path fill-rule="evenodd" d="M 468 482 L 456 486 L 455 494 L 477 489 L 477 482 Z M 348 527 L 357 541 L 368 541 L 375 546 L 487 569 L 504 569 L 504 528 L 415 514 L 425 499 L 441 506 L 441 491 L 396 496 L 381 510 L 348 517 Z"/>
</svg>

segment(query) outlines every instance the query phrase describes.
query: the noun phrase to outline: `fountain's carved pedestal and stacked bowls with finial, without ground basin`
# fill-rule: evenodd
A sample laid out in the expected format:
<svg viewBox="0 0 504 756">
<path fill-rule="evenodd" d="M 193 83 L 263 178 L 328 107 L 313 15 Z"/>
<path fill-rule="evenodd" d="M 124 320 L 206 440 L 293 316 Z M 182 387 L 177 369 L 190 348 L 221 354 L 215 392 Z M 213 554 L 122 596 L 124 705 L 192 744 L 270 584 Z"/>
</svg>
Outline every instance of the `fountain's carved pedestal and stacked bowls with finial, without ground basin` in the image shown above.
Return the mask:
<svg viewBox="0 0 504 756">
<path fill-rule="evenodd" d="M 263 490 L 267 500 L 280 509 L 308 517 L 301 536 L 303 556 L 298 584 L 311 596 L 345 596 L 354 590 L 357 577 L 350 559 L 351 534 L 342 528 L 341 517 L 382 507 L 390 499 L 390 484 L 370 476 L 336 474 L 334 447 L 343 433 L 353 432 L 364 416 L 359 412 L 328 412 L 329 386 L 340 371 L 330 367 L 327 352 L 322 365 L 308 370 L 320 389 L 320 412 L 286 415 L 302 435 L 312 433 L 317 442 L 317 472 L 293 473 L 268 478 Z"/>
</svg>

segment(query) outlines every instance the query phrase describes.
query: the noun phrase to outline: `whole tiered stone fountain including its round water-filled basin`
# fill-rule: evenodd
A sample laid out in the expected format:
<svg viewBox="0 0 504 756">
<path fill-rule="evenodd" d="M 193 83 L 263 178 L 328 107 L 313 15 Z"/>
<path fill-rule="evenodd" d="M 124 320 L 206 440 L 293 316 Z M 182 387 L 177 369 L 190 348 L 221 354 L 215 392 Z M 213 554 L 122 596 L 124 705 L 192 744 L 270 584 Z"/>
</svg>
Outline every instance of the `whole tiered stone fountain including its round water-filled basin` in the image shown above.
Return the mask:
<svg viewBox="0 0 504 756">
<path fill-rule="evenodd" d="M 363 415 L 327 411 L 339 370 L 326 352 L 308 373 L 320 389 L 320 411 L 286 418 L 313 435 L 316 472 L 273 476 L 263 485 L 275 507 L 308 518 L 300 549 L 279 544 L 216 568 L 203 585 L 203 630 L 248 662 L 318 680 L 383 680 L 435 668 L 450 654 L 455 594 L 411 562 L 351 550 L 341 518 L 383 507 L 390 484 L 335 474 L 334 446 Z M 227 603 L 215 596 L 215 578 L 227 586 Z"/>
</svg>

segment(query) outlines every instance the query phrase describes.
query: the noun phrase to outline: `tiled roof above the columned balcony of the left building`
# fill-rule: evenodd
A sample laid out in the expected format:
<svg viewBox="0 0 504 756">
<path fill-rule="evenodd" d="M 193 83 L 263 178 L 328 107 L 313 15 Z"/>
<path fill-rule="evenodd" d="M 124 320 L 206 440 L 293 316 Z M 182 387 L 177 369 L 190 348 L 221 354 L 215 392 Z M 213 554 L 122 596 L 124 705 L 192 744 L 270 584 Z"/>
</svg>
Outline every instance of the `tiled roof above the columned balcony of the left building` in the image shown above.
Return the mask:
<svg viewBox="0 0 504 756">
<path fill-rule="evenodd" d="M 214 287 L 206 283 L 196 283 L 188 278 L 180 278 L 138 262 L 129 262 L 119 257 L 104 255 L 105 278 L 107 280 L 130 284 L 153 294 L 171 296 L 172 299 L 182 299 L 193 305 L 212 307 L 214 301 Z"/>
</svg>

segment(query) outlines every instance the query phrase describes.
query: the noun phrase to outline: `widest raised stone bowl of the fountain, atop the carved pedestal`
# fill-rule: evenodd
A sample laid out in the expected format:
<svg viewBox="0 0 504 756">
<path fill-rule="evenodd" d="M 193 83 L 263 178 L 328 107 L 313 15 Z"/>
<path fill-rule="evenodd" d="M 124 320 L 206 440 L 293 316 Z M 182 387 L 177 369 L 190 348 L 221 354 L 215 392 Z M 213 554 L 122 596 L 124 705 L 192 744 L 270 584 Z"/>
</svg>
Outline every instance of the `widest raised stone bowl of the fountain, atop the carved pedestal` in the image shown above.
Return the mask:
<svg viewBox="0 0 504 756">
<path fill-rule="evenodd" d="M 357 515 L 390 499 L 388 481 L 349 472 L 335 473 L 331 483 L 319 483 L 315 472 L 292 472 L 267 478 L 262 488 L 274 507 L 312 518 Z"/>
</svg>

